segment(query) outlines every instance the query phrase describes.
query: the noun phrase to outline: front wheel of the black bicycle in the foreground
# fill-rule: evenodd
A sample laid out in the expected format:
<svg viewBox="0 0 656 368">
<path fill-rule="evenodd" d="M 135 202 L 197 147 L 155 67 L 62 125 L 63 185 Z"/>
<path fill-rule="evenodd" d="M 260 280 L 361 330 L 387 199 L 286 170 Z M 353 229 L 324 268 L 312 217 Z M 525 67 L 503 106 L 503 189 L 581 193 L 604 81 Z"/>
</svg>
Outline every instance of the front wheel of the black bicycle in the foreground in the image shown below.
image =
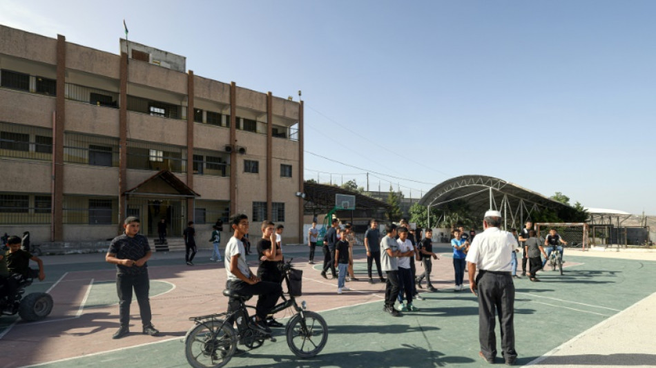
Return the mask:
<svg viewBox="0 0 656 368">
<path fill-rule="evenodd" d="M 318 313 L 311 311 L 293 316 L 287 326 L 287 345 L 299 358 L 311 358 L 320 353 L 328 341 L 328 325 Z"/>
</svg>

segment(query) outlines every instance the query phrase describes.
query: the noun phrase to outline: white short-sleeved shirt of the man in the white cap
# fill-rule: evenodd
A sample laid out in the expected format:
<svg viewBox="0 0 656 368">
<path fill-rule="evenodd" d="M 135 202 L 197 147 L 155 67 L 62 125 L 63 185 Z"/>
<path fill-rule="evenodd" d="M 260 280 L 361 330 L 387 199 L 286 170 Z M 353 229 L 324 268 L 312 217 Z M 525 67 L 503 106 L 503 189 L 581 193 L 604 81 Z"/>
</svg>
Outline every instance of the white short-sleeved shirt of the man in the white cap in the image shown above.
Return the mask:
<svg viewBox="0 0 656 368">
<path fill-rule="evenodd" d="M 510 253 L 517 246 L 512 233 L 489 227 L 476 235 L 465 260 L 485 271 L 512 271 Z"/>
</svg>

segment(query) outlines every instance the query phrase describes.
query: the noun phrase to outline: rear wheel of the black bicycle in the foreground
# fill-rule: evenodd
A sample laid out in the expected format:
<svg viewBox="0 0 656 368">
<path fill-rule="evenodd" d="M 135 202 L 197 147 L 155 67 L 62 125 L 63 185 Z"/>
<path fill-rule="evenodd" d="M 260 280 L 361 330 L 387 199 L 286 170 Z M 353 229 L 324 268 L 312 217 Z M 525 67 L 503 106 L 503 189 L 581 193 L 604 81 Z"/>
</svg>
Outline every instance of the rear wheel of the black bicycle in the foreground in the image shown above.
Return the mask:
<svg viewBox="0 0 656 368">
<path fill-rule="evenodd" d="M 237 336 L 222 320 L 212 320 L 189 330 L 184 340 L 184 355 L 191 367 L 219 368 L 228 364 L 235 349 Z"/>
</svg>

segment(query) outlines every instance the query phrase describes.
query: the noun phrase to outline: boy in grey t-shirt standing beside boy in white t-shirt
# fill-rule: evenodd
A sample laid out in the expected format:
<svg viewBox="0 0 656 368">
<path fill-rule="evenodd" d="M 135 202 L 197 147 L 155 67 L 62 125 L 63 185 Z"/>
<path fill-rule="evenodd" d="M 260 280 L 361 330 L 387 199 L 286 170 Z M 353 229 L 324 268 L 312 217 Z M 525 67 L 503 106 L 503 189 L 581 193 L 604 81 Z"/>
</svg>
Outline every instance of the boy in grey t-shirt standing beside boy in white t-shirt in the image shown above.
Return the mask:
<svg viewBox="0 0 656 368">
<path fill-rule="evenodd" d="M 396 224 L 385 225 L 385 237 L 380 240 L 380 264 L 381 268 L 387 273 L 387 281 L 385 282 L 385 307 L 383 311 L 391 314 L 394 317 L 401 316 L 394 309 L 394 303 L 398 298 L 398 264 L 396 258 L 401 255 L 398 251 L 398 244 L 396 243 Z"/>
</svg>

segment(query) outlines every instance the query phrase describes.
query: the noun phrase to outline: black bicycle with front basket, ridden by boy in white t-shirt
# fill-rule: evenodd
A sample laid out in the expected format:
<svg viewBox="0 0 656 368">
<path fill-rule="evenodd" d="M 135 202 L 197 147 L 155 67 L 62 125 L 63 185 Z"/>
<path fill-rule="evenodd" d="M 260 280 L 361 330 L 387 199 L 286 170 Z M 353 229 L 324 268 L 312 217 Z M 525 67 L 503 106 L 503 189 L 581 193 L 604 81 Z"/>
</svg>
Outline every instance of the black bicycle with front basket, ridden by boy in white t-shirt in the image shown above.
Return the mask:
<svg viewBox="0 0 656 368">
<path fill-rule="evenodd" d="M 283 293 L 282 302 L 273 307 L 271 313 L 290 307 L 296 311 L 284 329 L 287 345 L 296 356 L 311 358 L 326 346 L 328 325 L 318 313 L 306 310 L 305 301 L 301 302 L 300 306 L 296 303 L 296 296 L 300 295 L 300 278 L 295 282 L 290 281 L 290 273 L 298 272 L 291 268 L 291 260 L 282 264 L 280 269 L 289 293 L 287 297 Z M 184 338 L 184 354 L 192 367 L 223 367 L 235 356 L 237 345 L 244 345 L 252 350 L 262 346 L 264 340 L 276 342 L 276 338 L 271 334 L 264 333 L 249 323 L 248 309 L 255 307 L 246 305 L 246 302 L 252 296 L 239 295 L 230 289 L 224 290 L 223 295 L 238 307 L 224 313 L 189 318 L 193 320 L 194 326 L 187 331 Z M 233 323 L 236 323 L 237 331 L 233 328 Z"/>
</svg>

